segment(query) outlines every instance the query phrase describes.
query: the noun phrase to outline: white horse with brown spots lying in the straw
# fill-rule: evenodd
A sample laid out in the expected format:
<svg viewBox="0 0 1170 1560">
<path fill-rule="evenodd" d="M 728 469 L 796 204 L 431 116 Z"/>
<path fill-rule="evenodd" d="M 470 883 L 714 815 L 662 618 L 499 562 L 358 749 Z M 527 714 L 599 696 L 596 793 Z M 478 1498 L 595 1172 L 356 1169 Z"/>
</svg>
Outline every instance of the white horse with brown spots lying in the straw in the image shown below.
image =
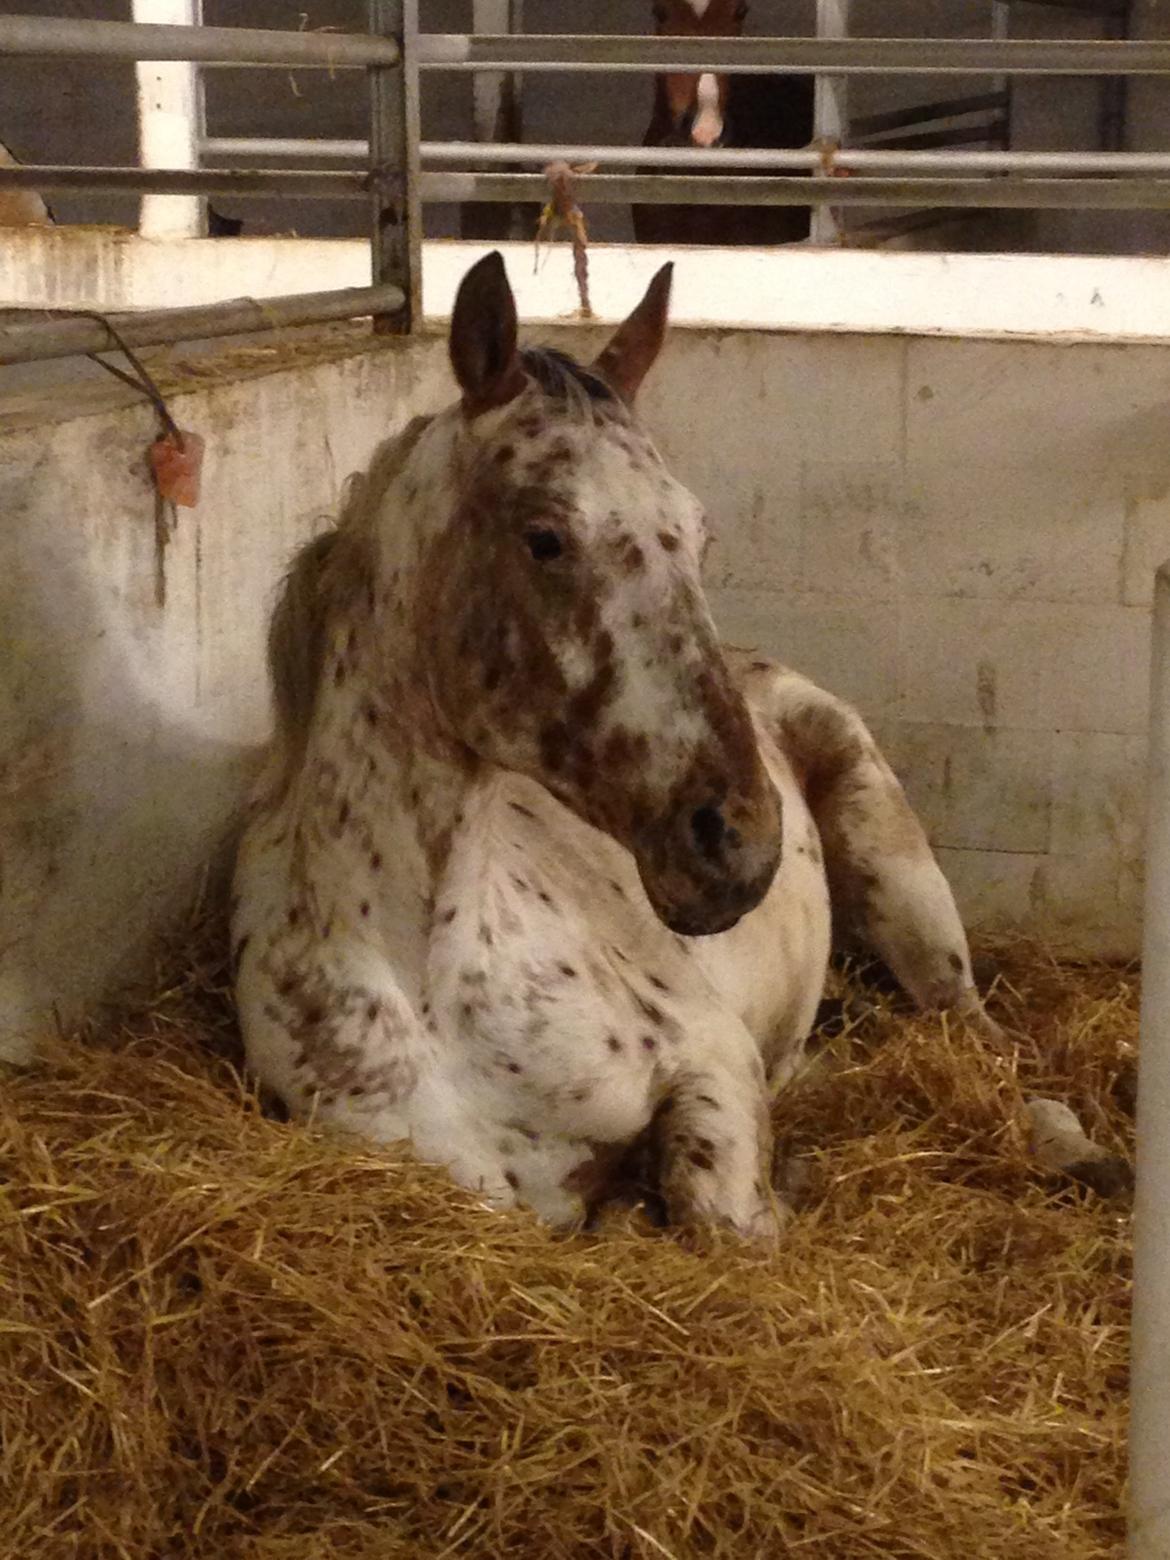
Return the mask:
<svg viewBox="0 0 1170 1560">
<path fill-rule="evenodd" d="M 293 1112 L 496 1206 L 574 1225 L 652 1143 L 671 1221 L 769 1236 L 833 916 L 994 1025 L 861 719 L 716 638 L 707 518 L 632 412 L 669 287 L 583 368 L 518 349 L 498 254 L 463 279 L 462 402 L 382 445 L 273 618 L 237 998 Z"/>
</svg>

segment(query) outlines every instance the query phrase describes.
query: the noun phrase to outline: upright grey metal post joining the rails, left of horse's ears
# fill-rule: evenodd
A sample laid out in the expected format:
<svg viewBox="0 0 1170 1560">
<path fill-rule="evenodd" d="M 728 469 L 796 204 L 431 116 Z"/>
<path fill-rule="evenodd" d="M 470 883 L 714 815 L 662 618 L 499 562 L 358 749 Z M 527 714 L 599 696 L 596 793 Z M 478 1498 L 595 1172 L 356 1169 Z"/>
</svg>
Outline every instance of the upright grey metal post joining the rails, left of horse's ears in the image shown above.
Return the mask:
<svg viewBox="0 0 1170 1560">
<path fill-rule="evenodd" d="M 370 212 L 373 284 L 406 295 L 395 315 L 378 315 L 379 335 L 417 331 L 423 320 L 423 209 L 418 167 L 418 0 L 368 0 L 370 31 L 396 37 L 396 66 L 370 70 Z"/>
</svg>

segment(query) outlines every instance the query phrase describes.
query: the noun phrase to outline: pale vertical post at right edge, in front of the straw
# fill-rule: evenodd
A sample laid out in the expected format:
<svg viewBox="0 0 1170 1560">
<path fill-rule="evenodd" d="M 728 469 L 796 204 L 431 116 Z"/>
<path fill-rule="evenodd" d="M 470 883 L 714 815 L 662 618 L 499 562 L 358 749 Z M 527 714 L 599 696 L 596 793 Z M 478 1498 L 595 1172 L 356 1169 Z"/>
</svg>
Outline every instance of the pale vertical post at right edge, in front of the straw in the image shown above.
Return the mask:
<svg viewBox="0 0 1170 1560">
<path fill-rule="evenodd" d="M 1170 1560 L 1170 563 L 1154 585 L 1150 694 L 1129 1560 Z"/>
</svg>

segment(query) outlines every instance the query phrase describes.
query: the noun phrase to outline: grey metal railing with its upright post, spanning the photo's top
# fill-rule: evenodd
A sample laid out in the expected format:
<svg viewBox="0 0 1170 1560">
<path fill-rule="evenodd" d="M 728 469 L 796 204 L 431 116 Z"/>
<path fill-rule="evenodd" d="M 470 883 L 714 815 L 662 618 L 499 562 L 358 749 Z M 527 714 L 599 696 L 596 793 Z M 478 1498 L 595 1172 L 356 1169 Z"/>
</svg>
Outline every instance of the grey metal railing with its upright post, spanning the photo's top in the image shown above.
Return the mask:
<svg viewBox="0 0 1170 1560">
<path fill-rule="evenodd" d="M 167 0 L 136 0 L 161 6 Z M 198 17 L 198 0 L 170 0 Z M 847 0 L 819 0 L 844 16 Z M 1061 0 L 1067 9 L 1067 0 Z M 1098 0 L 1086 9 L 1101 11 Z M 1120 9 L 1120 6 L 1119 6 Z M 370 206 L 371 287 L 348 290 L 354 317 L 370 312 L 381 331 L 409 331 L 420 318 L 421 207 L 429 201 L 530 203 L 546 195 L 543 167 L 565 158 L 594 162 L 579 175 L 580 201 L 605 204 L 789 204 L 903 209 L 1170 209 L 1170 153 L 970 150 L 961 133 L 924 133 L 917 147 L 874 144 L 905 129 L 920 111 L 878 115 L 864 145 L 789 151 L 421 142 L 418 89 L 423 70 L 501 76 L 516 72 L 797 72 L 817 78 L 817 128 L 841 120 L 844 83 L 855 75 L 989 75 L 995 83 L 1028 76 L 1170 76 L 1170 41 L 817 37 L 638 37 L 512 33 L 420 33 L 418 0 L 368 0 L 370 31 L 281 33 L 257 28 L 92 22 L 64 17 L 0 17 L 0 55 L 41 59 L 181 61 L 193 67 L 363 70 L 370 89 L 367 140 L 215 137 L 192 126 L 187 167 L 0 168 L 0 187 L 37 190 L 134 190 L 148 198 L 207 195 L 343 198 Z M 838 27 L 838 34 L 844 27 Z M 139 69 L 145 69 L 139 64 Z M 165 67 L 159 67 L 165 69 Z M 1002 87 L 950 98 L 950 114 L 986 111 Z M 197 95 L 190 98 L 197 101 Z M 964 105 L 967 108 L 964 109 Z M 192 111 L 195 112 L 195 111 Z M 145 129 L 144 129 L 145 148 Z M 950 150 L 947 150 L 950 148 Z M 204 158 L 328 158 L 360 168 L 307 170 L 203 165 Z M 144 153 L 144 161 L 153 161 Z M 530 172 L 524 172 L 529 168 Z M 652 170 L 652 172 L 649 172 Z M 714 172 L 718 170 L 718 172 Z M 725 172 L 724 172 L 725 170 Z M 850 178 L 838 175 L 849 173 Z M 824 234 L 824 229 L 821 229 Z M 387 290 L 390 289 L 390 290 Z M 401 303 L 393 292 L 398 289 Z M 312 307 L 324 309 L 323 295 Z M 290 300 L 285 300 L 290 303 Z M 226 306 L 225 306 L 226 307 Z M 178 317 L 183 310 L 176 310 Z M 206 314 L 206 310 L 204 310 Z M 324 315 L 321 315 L 324 317 Z M 335 317 L 329 314 L 328 317 Z"/>
</svg>

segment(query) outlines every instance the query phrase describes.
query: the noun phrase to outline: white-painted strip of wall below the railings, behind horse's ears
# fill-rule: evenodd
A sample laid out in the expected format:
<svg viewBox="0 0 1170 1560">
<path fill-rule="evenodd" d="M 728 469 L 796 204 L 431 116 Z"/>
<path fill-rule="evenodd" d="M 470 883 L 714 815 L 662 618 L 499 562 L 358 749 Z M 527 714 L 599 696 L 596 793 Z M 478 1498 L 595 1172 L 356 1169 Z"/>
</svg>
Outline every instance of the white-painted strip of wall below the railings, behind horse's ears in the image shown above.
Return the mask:
<svg viewBox="0 0 1170 1560">
<path fill-rule="evenodd" d="M 468 267 L 504 251 L 521 317 L 577 317 L 568 245 L 540 264 L 527 243 L 423 246 L 423 307 L 451 314 Z M 783 331 L 908 331 L 1165 340 L 1170 259 L 1073 254 L 924 254 L 874 250 L 666 250 L 597 245 L 590 292 L 599 320 L 621 320 L 651 276 L 674 262 L 677 323 Z M 162 309 L 226 298 L 370 284 L 362 239 L 145 240 L 103 229 L 22 228 L 0 245 L 0 309 Z M 0 368 L 0 395 L 5 381 Z"/>
</svg>

